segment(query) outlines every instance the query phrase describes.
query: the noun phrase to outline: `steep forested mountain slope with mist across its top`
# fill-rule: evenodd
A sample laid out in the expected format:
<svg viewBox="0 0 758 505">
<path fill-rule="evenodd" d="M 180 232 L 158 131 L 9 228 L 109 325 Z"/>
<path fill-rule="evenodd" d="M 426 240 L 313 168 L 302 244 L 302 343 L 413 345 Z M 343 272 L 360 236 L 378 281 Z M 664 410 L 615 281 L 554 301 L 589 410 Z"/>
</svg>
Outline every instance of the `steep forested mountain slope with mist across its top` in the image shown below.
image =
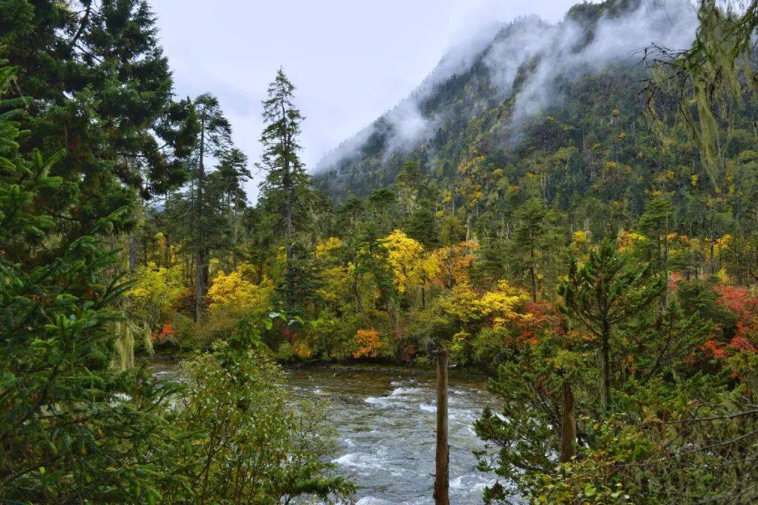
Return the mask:
<svg viewBox="0 0 758 505">
<path fill-rule="evenodd" d="M 672 194 L 682 232 L 717 234 L 723 213 L 755 226 L 755 98 L 727 105 L 722 164 L 706 170 L 675 122 L 678 91 L 663 86 L 650 102 L 645 93 L 648 45 L 688 47 L 696 26 L 685 2 L 634 0 L 575 5 L 557 26 L 516 20 L 457 68 L 443 59 L 411 97 L 325 157 L 316 183 L 337 198 L 368 195 L 414 161 L 434 210 L 487 234 L 507 233 L 509 209 L 525 198 L 518 189 L 598 236 L 628 229 L 653 191 Z"/>
</svg>

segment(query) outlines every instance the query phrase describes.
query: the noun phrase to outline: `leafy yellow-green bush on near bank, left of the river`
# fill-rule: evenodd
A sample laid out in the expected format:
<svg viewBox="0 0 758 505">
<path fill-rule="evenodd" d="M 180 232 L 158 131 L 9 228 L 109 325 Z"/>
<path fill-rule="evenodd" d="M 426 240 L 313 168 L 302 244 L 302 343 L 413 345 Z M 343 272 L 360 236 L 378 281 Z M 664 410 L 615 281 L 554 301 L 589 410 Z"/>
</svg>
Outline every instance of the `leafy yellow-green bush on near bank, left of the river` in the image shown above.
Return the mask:
<svg viewBox="0 0 758 505">
<path fill-rule="evenodd" d="M 192 493 L 176 488 L 164 503 L 337 503 L 352 494 L 324 463 L 336 449 L 324 406 L 293 404 L 265 354 L 218 344 L 187 361 L 182 375 L 189 382 L 170 420 L 192 434 L 179 457 L 191 462 Z"/>
</svg>

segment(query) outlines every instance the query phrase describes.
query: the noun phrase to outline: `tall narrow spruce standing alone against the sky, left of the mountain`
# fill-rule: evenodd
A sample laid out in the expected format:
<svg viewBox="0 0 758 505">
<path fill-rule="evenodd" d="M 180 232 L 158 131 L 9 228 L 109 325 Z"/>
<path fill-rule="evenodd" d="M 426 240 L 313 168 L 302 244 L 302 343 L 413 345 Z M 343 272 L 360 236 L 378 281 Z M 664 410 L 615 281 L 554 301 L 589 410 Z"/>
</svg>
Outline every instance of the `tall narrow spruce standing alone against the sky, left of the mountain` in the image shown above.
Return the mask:
<svg viewBox="0 0 758 505">
<path fill-rule="evenodd" d="M 287 267 L 284 279 L 284 301 L 292 309 L 295 300 L 295 266 L 293 257 L 295 226 L 293 207 L 296 190 L 308 184 L 305 167 L 300 161 L 300 123 L 303 117 L 295 106 L 295 86 L 287 79 L 283 69 L 268 86 L 268 98 L 263 101 L 263 120 L 266 123 L 261 134 L 263 154 L 260 167 L 266 170 L 262 189 L 268 198 L 280 203 L 284 229 L 284 247 L 287 251 Z"/>
</svg>

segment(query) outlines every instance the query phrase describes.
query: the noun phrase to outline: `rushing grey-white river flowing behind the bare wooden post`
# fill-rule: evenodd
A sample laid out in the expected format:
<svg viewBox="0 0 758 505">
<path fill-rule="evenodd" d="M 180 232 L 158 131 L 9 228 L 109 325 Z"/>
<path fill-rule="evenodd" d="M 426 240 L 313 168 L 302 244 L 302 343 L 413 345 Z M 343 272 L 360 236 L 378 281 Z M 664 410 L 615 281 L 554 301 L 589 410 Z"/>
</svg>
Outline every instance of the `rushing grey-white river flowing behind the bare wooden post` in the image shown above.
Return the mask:
<svg viewBox="0 0 758 505">
<path fill-rule="evenodd" d="M 433 376 L 315 368 L 290 371 L 287 382 L 296 395 L 329 398 L 331 419 L 340 433 L 341 454 L 334 463 L 361 486 L 359 505 L 434 503 Z M 471 454 L 483 447 L 473 422 L 491 401 L 481 380 L 450 377 L 450 503 L 481 503 L 482 490 L 493 479 L 477 470 Z"/>
</svg>

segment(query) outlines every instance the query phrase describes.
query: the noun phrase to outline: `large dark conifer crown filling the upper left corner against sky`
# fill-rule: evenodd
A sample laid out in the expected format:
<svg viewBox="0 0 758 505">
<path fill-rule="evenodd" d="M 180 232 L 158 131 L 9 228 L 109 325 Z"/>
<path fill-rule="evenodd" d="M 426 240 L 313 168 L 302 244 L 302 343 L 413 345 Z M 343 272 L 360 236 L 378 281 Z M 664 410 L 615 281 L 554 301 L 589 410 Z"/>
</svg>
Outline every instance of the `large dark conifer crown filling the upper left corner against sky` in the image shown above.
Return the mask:
<svg viewBox="0 0 758 505">
<path fill-rule="evenodd" d="M 66 191 L 43 203 L 52 210 L 78 199 L 68 229 L 132 201 L 127 188 L 148 197 L 183 182 L 185 146 L 174 134 L 182 118 L 147 2 L 20 0 L 2 8 L 0 52 L 33 97 L 24 126 L 35 136 L 22 149 L 67 151 L 53 168 Z"/>
</svg>

